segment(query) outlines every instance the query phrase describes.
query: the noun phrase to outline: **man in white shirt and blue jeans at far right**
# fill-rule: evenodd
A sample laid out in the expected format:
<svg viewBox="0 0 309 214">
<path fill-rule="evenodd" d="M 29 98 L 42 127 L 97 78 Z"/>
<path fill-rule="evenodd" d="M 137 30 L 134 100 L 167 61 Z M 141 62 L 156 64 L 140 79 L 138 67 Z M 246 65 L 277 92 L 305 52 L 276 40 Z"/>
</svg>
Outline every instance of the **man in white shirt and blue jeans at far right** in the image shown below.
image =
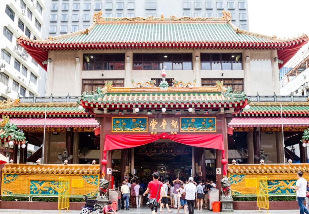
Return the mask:
<svg viewBox="0 0 309 214">
<path fill-rule="evenodd" d="M 304 212 L 308 214 L 309 211 L 304 206 L 304 199 L 306 198 L 307 191 L 307 181 L 305 178 L 303 178 L 303 173 L 300 171 L 297 172 L 297 178 L 298 180 L 296 181 L 296 187 L 290 186 L 290 189 L 296 190 L 296 199 L 298 202 L 300 214 L 304 214 Z"/>
</svg>

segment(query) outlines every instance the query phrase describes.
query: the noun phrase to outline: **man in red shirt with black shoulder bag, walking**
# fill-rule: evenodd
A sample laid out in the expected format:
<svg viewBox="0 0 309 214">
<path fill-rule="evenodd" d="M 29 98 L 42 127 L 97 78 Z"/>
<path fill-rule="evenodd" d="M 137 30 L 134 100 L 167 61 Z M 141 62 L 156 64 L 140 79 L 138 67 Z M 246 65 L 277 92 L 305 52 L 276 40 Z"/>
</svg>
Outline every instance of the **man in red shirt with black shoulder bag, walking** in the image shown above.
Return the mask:
<svg viewBox="0 0 309 214">
<path fill-rule="evenodd" d="M 151 214 L 157 214 L 158 213 L 158 206 L 159 206 L 159 203 L 161 202 L 161 199 L 162 199 L 162 193 L 164 192 L 163 183 L 159 181 L 159 178 L 160 178 L 159 173 L 154 172 L 152 174 L 153 181 L 150 181 L 148 183 L 147 190 L 143 194 L 145 196 L 146 194 L 148 194 L 148 192 L 150 192 L 149 199 L 155 199 L 157 192 L 158 192 L 158 188 L 160 188 L 158 196 L 156 198 L 157 199 L 157 206 L 151 208 Z"/>
</svg>

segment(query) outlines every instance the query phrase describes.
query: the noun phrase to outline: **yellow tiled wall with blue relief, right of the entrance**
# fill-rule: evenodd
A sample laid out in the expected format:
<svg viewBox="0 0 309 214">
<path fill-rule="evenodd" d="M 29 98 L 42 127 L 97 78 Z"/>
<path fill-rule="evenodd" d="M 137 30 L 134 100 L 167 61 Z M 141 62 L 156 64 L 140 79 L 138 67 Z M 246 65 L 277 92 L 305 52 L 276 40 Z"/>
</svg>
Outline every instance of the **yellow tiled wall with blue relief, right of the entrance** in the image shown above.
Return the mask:
<svg viewBox="0 0 309 214">
<path fill-rule="evenodd" d="M 229 164 L 228 177 L 232 195 L 256 195 L 255 179 L 263 176 L 267 177 L 269 194 L 295 195 L 289 186 L 295 186 L 298 171 L 308 181 L 309 164 Z"/>
</svg>

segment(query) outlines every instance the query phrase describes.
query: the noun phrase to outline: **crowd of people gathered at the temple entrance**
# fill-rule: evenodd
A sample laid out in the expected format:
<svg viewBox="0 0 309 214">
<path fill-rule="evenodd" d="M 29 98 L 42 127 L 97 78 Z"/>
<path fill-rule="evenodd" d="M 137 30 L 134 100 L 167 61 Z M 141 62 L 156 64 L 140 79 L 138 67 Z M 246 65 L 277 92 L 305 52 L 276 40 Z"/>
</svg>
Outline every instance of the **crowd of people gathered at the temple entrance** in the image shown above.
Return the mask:
<svg viewBox="0 0 309 214">
<path fill-rule="evenodd" d="M 163 179 L 159 173 L 153 173 L 151 180 L 147 180 L 146 176 L 139 178 L 137 174 L 131 176 L 131 178 L 125 177 L 121 186 L 116 185 L 117 181 L 114 184 L 114 188 L 119 188 L 121 191 L 121 209 L 141 208 L 148 199 L 155 198 L 156 190 L 161 184 L 157 198 L 159 212 L 173 212 L 173 209 L 176 209 L 179 213 L 184 209 L 184 214 L 187 214 L 187 210 L 189 214 L 193 214 L 194 208 L 202 210 L 207 207 L 207 192 L 216 188 L 213 181 L 198 180 L 197 175 L 194 178 L 182 177 L 182 179 L 178 175 L 175 180 L 169 177 Z M 163 210 L 164 207 L 166 211 Z M 154 209 L 154 212 L 157 212 L 158 208 Z"/>
</svg>

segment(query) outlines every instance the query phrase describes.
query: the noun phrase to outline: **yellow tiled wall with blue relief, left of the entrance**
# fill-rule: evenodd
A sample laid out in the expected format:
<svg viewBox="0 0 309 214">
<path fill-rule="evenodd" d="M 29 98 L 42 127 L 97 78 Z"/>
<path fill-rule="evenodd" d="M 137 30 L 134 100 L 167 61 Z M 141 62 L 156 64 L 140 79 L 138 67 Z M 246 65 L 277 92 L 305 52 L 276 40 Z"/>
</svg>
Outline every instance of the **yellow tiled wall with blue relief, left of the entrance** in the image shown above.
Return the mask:
<svg viewBox="0 0 309 214">
<path fill-rule="evenodd" d="M 6 164 L 2 195 L 58 195 L 59 178 L 70 179 L 70 195 L 98 195 L 99 165 Z"/>
</svg>

